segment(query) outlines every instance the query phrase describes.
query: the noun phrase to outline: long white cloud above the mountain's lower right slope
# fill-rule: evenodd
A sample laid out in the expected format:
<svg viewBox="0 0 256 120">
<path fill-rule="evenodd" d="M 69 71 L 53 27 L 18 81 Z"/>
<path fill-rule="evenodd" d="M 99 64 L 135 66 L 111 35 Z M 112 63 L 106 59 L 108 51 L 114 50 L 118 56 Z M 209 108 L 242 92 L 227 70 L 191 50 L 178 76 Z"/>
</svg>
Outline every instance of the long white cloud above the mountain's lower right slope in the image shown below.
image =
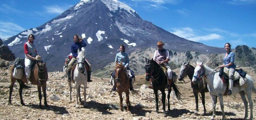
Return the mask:
<svg viewBox="0 0 256 120">
<path fill-rule="evenodd" d="M 218 40 L 222 38 L 222 36 L 215 33 L 207 35 L 197 35 L 192 28 L 174 28 L 173 30 L 173 34 L 196 42 L 206 40 Z"/>
</svg>

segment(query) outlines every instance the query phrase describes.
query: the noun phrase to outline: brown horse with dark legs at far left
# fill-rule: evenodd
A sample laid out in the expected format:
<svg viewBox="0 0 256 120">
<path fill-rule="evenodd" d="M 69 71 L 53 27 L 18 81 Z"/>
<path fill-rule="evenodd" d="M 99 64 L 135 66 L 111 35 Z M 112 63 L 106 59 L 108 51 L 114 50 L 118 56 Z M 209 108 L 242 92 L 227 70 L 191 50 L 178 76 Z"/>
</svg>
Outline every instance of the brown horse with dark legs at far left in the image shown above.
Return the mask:
<svg viewBox="0 0 256 120">
<path fill-rule="evenodd" d="M 24 86 L 26 86 L 24 83 L 28 83 L 28 80 L 26 78 L 26 74 L 25 72 L 23 72 L 22 75 L 22 79 L 17 79 L 14 78 L 12 76 L 13 73 L 13 69 L 14 69 L 14 65 L 10 68 L 11 70 L 11 84 L 10 84 L 10 95 L 9 95 L 9 105 L 12 105 L 12 90 L 13 90 L 13 86 L 14 83 L 16 82 L 16 80 L 18 81 L 18 83 L 20 84 L 20 88 L 19 88 L 19 94 L 20 94 L 20 103 L 25 106 L 24 102 L 23 102 L 23 98 L 22 98 L 22 89 L 24 88 Z M 24 71 L 24 68 L 22 68 Z M 38 88 L 38 94 L 39 94 L 39 107 L 42 109 L 42 104 L 41 104 L 41 100 L 42 100 L 42 93 L 41 93 L 41 87 L 43 89 L 43 93 L 44 93 L 44 105 L 46 107 L 48 107 L 47 101 L 46 101 L 46 81 L 48 79 L 48 73 L 47 73 L 47 68 L 46 68 L 46 63 L 43 62 L 36 62 L 36 65 L 34 66 L 33 71 L 31 72 L 30 75 L 30 82 L 33 85 L 37 85 Z"/>
</svg>

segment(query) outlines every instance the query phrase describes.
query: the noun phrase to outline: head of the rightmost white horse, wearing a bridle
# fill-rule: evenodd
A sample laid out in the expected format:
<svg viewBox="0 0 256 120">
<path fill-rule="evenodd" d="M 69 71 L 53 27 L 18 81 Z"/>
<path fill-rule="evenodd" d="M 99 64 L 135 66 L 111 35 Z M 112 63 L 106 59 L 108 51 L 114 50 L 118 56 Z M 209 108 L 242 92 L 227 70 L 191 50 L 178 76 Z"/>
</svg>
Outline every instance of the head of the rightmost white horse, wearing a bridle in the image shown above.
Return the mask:
<svg viewBox="0 0 256 120">
<path fill-rule="evenodd" d="M 204 76 L 204 66 L 203 66 L 204 61 L 202 61 L 201 63 L 196 62 L 196 68 L 194 70 L 194 75 L 192 78 L 192 83 L 196 84 L 198 83 L 199 80 L 201 80 Z"/>
</svg>

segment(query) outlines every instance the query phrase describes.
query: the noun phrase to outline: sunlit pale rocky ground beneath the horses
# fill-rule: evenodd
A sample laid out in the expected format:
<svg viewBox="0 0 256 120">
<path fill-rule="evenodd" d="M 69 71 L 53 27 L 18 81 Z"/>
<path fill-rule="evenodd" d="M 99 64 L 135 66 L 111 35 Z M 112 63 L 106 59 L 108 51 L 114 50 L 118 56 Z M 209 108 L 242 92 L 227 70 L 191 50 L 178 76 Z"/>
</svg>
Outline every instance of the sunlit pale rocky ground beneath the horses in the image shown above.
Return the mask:
<svg viewBox="0 0 256 120">
<path fill-rule="evenodd" d="M 256 79 L 254 68 L 243 68 L 248 70 L 248 74 Z M 177 74 L 179 69 L 174 70 Z M 167 117 L 164 116 L 162 110 L 162 102 L 159 102 L 159 114 L 154 111 L 155 98 L 153 90 L 146 88 L 149 82 L 146 82 L 145 76 L 136 76 L 135 90 L 130 92 L 130 102 L 132 104 L 131 112 L 122 112 L 119 110 L 119 96 L 117 92 L 111 92 L 112 86 L 109 85 L 109 78 L 97 78 L 92 76 L 93 82 L 88 83 L 86 89 L 87 105 L 83 108 L 75 107 L 76 91 L 74 84 L 72 84 L 72 102 L 69 102 L 69 88 L 66 78 L 63 77 L 63 72 L 50 72 L 49 80 L 47 81 L 47 102 L 49 107 L 43 106 L 39 108 L 37 87 L 31 84 L 30 89 L 23 91 L 23 100 L 26 106 L 21 106 L 18 94 L 19 84 L 16 82 L 14 91 L 12 93 L 12 105 L 8 105 L 10 75 L 9 69 L 0 68 L 0 119 L 84 119 L 84 120 L 166 120 L 166 119 L 203 119 L 208 120 L 212 114 L 203 115 L 203 106 L 199 100 L 199 115 L 194 115 L 195 100 L 192 93 L 190 83 L 184 84 L 177 82 L 178 88 L 182 93 L 183 101 L 178 101 L 176 98 L 170 98 L 171 111 L 168 112 Z M 188 78 L 185 81 L 189 81 Z M 254 83 L 256 86 L 256 83 Z M 82 86 L 83 88 L 83 86 Z M 81 90 L 82 99 L 83 89 Z M 167 91 L 166 91 L 167 93 Z M 158 94 L 159 98 L 161 94 Z M 125 94 L 123 94 L 125 98 Z M 254 119 L 256 119 L 256 94 L 253 94 L 254 103 Z M 166 98 L 167 99 L 167 98 Z M 124 99 L 125 101 L 125 99 Z M 125 102 L 123 102 L 126 106 Z M 167 109 L 167 100 L 166 100 Z M 217 116 L 216 119 L 221 119 L 220 104 L 217 102 Z M 212 110 L 212 102 L 210 94 L 206 93 L 206 110 Z M 224 110 L 227 119 L 242 119 L 244 118 L 244 104 L 239 95 L 232 97 L 224 97 Z M 249 115 L 250 116 L 250 115 Z"/>
</svg>

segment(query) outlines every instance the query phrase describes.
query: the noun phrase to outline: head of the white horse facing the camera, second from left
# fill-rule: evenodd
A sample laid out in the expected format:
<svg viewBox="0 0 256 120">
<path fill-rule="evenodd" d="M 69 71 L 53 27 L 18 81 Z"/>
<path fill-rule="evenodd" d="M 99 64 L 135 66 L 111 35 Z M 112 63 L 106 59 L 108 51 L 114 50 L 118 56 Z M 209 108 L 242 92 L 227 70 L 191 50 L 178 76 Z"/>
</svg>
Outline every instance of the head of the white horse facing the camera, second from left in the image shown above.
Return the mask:
<svg viewBox="0 0 256 120">
<path fill-rule="evenodd" d="M 77 62 L 78 62 L 78 71 L 81 72 L 82 74 L 84 74 L 85 71 L 85 66 L 84 66 L 84 47 L 81 48 L 82 50 L 80 51 L 79 48 L 77 50 L 78 56 L 77 58 Z"/>
</svg>

